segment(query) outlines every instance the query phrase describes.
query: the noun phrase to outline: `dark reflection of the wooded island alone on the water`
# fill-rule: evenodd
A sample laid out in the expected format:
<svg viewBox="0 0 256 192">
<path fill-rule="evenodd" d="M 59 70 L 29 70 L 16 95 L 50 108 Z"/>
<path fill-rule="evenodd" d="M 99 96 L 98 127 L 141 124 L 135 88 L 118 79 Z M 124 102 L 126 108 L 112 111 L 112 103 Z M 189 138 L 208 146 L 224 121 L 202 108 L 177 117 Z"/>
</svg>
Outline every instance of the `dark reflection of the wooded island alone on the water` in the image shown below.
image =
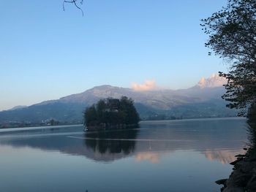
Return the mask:
<svg viewBox="0 0 256 192">
<path fill-rule="evenodd" d="M 138 131 L 139 125 L 130 129 L 86 132 L 85 144 L 86 147 L 101 154 L 106 152 L 129 154 L 135 150 Z"/>
</svg>

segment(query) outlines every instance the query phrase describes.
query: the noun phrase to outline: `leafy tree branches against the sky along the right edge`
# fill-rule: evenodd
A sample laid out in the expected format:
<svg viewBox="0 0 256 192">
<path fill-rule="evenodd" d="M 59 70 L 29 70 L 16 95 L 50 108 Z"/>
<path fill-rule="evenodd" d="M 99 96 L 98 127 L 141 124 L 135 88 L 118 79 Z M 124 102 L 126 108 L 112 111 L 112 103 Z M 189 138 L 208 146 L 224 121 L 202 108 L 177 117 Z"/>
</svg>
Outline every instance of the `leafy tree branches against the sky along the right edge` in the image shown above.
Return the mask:
<svg viewBox="0 0 256 192">
<path fill-rule="evenodd" d="M 219 72 L 219 76 L 227 78 L 227 92 L 222 98 L 230 101 L 227 107 L 244 109 L 241 114 L 256 102 L 255 19 L 255 0 L 228 0 L 227 7 L 201 24 L 209 37 L 206 47 L 230 60 L 230 72 Z"/>
</svg>

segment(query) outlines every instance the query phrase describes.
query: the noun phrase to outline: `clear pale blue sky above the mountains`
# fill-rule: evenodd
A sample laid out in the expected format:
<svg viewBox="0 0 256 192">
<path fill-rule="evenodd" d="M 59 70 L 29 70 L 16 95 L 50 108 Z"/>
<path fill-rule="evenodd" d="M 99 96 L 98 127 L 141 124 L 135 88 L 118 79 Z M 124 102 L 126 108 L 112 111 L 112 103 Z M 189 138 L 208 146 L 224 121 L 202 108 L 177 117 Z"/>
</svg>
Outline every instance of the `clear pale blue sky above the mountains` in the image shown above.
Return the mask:
<svg viewBox="0 0 256 192">
<path fill-rule="evenodd" d="M 225 0 L 1 1 L 0 110 L 97 85 L 189 88 L 227 65 L 200 19 Z M 141 85 L 143 84 L 143 85 Z"/>
</svg>

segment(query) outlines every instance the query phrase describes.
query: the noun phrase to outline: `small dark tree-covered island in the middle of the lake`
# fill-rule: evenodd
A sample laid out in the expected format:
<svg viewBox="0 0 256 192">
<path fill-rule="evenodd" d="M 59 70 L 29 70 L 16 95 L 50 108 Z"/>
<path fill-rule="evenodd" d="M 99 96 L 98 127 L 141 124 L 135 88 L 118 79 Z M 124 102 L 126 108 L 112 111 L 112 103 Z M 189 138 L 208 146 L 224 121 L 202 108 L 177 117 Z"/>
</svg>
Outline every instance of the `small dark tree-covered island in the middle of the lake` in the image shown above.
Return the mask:
<svg viewBox="0 0 256 192">
<path fill-rule="evenodd" d="M 137 125 L 140 120 L 133 100 L 127 96 L 101 99 L 86 108 L 83 118 L 86 130 L 127 128 Z"/>
</svg>

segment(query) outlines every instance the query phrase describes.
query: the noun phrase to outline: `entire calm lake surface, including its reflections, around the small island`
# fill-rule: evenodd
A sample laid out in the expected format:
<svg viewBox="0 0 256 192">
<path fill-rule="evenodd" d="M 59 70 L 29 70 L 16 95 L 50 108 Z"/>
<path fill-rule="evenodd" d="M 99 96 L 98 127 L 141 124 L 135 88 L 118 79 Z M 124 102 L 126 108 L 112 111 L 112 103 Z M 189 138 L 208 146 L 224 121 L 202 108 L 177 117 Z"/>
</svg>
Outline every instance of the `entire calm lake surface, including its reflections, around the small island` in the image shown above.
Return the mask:
<svg viewBox="0 0 256 192">
<path fill-rule="evenodd" d="M 0 191 L 219 191 L 246 145 L 239 118 L 82 128 L 0 130 Z"/>
</svg>

